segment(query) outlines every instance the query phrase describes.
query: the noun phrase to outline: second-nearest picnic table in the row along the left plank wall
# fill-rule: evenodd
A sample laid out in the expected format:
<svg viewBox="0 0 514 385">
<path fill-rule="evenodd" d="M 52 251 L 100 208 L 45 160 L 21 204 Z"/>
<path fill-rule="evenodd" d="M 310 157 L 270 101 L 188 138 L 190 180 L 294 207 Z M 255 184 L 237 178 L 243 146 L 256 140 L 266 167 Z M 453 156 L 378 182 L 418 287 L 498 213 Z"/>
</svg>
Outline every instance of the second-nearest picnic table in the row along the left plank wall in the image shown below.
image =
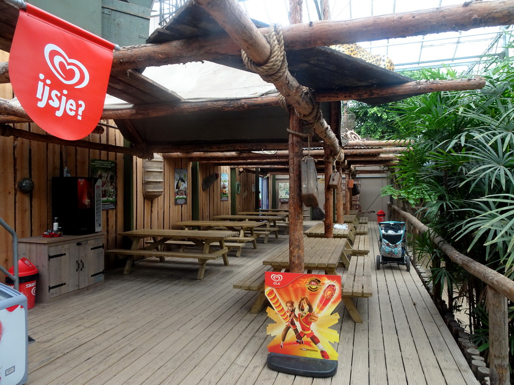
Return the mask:
<svg viewBox="0 0 514 385">
<path fill-rule="evenodd" d="M 175 223 L 178 226 L 182 226 L 185 229 L 192 230 L 192 227 L 198 227 L 201 230 L 211 230 L 217 227 L 224 227 L 233 232 L 237 232 L 238 235 L 235 237 L 230 237 L 227 241 L 236 241 L 240 242 L 240 244 L 244 244 L 245 242 L 252 242 L 253 248 L 257 248 L 257 242 L 255 239 L 257 235 L 255 235 L 255 228 L 262 227 L 266 223 L 258 222 L 258 221 L 181 221 Z M 235 247 L 235 246 L 234 246 Z M 230 247 L 229 247 L 230 249 Z"/>
</svg>

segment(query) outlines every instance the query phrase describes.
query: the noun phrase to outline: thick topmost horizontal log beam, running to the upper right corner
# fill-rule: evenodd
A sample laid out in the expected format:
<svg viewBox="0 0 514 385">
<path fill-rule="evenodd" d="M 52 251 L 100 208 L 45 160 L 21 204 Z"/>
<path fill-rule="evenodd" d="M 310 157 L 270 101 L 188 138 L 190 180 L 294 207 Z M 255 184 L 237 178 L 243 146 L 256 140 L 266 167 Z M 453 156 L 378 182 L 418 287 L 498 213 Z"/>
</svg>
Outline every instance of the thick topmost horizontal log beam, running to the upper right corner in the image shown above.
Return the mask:
<svg viewBox="0 0 514 385">
<path fill-rule="evenodd" d="M 213 3 L 212 7 L 215 6 Z M 231 17 L 227 14 L 224 18 L 232 21 Z M 497 0 L 345 21 L 293 24 L 283 26 L 282 33 L 286 49 L 303 49 L 511 24 L 511 0 Z M 261 32 L 266 33 L 267 29 Z M 240 50 L 229 36 L 127 46 L 114 52 L 113 70 L 223 59 L 226 55 L 240 56 Z"/>
</svg>

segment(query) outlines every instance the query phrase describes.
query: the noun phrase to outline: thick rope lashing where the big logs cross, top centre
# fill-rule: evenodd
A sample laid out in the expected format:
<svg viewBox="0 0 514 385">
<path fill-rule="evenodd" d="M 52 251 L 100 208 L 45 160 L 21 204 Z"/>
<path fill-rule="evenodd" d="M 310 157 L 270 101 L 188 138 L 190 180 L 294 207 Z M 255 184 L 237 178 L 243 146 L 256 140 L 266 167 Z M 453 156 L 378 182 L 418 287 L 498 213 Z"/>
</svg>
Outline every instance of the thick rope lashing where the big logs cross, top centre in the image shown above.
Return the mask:
<svg viewBox="0 0 514 385">
<path fill-rule="evenodd" d="M 287 60 L 281 25 L 271 24 L 269 26 L 269 32 L 265 34 L 264 37 L 271 47 L 271 55 L 267 63 L 263 65 L 256 64 L 243 50 L 241 50 L 241 57 L 243 58 L 246 68 L 259 74 L 264 81 L 274 83 L 283 78 L 287 72 Z"/>
</svg>

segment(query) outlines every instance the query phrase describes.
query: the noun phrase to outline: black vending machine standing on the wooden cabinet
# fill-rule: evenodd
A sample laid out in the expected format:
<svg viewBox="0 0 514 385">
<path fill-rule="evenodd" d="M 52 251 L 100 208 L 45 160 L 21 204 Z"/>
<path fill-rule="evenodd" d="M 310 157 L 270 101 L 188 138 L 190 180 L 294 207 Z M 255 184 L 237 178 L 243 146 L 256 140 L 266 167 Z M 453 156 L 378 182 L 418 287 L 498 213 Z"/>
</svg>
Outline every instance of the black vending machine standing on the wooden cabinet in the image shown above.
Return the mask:
<svg viewBox="0 0 514 385">
<path fill-rule="evenodd" d="M 102 180 L 99 178 L 52 178 L 52 217 L 63 235 L 102 231 Z"/>
</svg>

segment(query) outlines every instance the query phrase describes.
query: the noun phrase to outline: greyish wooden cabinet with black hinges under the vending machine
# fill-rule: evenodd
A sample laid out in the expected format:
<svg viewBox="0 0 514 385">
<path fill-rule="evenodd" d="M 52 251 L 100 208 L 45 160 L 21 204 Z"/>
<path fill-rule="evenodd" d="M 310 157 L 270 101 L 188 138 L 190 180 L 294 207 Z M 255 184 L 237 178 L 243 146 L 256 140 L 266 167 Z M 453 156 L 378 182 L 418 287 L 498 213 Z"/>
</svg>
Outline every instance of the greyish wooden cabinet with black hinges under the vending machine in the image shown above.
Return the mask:
<svg viewBox="0 0 514 385">
<path fill-rule="evenodd" d="M 104 235 L 19 239 L 20 258 L 27 258 L 38 268 L 36 302 L 46 303 L 51 298 L 103 281 Z"/>
</svg>

